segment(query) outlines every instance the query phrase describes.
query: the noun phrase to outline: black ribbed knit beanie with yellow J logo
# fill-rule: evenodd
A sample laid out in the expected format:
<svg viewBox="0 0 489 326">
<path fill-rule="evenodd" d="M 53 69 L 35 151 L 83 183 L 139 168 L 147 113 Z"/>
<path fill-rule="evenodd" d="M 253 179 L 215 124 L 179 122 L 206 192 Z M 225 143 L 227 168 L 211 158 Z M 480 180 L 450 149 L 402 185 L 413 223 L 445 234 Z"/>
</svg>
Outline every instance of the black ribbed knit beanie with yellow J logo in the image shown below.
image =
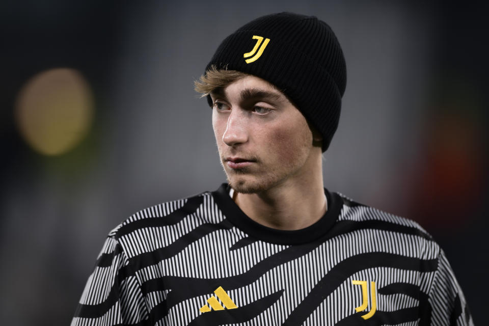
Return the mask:
<svg viewBox="0 0 489 326">
<path fill-rule="evenodd" d="M 259 17 L 228 36 L 206 71 L 211 65 L 274 84 L 322 134 L 322 151 L 328 149 L 340 118 L 346 65 L 327 23 L 288 12 Z"/>
</svg>

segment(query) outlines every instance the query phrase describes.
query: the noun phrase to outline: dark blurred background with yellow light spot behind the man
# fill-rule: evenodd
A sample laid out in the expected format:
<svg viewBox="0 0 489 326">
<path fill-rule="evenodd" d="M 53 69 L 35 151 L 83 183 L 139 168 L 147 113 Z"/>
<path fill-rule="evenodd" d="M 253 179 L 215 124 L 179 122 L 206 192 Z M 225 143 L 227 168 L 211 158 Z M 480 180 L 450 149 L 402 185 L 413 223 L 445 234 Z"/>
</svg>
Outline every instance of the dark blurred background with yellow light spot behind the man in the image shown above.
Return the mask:
<svg viewBox="0 0 489 326">
<path fill-rule="evenodd" d="M 346 58 L 325 186 L 421 223 L 480 324 L 489 290 L 487 9 L 446 1 L 2 2 L 2 324 L 69 324 L 112 228 L 225 181 L 211 111 L 193 80 L 227 35 L 280 11 L 328 22 Z"/>
</svg>

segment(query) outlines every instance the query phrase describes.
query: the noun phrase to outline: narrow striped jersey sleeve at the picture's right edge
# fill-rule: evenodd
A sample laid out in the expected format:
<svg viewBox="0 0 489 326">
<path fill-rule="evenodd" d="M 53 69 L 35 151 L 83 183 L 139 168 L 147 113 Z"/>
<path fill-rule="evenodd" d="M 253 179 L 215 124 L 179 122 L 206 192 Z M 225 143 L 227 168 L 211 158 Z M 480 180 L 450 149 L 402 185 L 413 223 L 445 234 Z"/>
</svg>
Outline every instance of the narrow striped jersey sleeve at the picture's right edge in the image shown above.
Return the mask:
<svg viewBox="0 0 489 326">
<path fill-rule="evenodd" d="M 443 251 L 440 251 L 438 268 L 429 291 L 428 302 L 431 306 L 431 325 L 474 324 L 464 293 Z"/>
</svg>

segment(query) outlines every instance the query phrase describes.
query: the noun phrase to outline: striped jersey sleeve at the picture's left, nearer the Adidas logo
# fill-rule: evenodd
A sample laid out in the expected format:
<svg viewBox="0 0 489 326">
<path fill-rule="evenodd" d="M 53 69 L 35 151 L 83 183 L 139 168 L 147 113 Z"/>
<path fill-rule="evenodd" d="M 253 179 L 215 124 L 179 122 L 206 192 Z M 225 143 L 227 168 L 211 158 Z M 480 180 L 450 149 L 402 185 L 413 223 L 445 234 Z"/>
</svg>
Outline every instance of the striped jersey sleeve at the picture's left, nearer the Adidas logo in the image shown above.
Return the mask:
<svg viewBox="0 0 489 326">
<path fill-rule="evenodd" d="M 71 326 L 143 325 L 148 309 L 139 280 L 113 236 L 107 237 Z"/>
</svg>

